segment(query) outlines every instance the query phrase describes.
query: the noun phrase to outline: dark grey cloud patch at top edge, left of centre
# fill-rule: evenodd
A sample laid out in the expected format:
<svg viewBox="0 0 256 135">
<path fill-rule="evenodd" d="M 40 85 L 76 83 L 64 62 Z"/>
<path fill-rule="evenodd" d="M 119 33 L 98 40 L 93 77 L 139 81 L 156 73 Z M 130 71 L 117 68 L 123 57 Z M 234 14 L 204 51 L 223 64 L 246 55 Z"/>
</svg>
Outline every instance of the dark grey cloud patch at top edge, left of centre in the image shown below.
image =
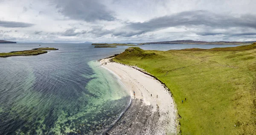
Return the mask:
<svg viewBox="0 0 256 135">
<path fill-rule="evenodd" d="M 109 10 L 98 0 L 55 0 L 56 8 L 66 17 L 74 20 L 94 22 L 96 20 L 113 21 L 116 18 L 113 11 Z"/>
</svg>

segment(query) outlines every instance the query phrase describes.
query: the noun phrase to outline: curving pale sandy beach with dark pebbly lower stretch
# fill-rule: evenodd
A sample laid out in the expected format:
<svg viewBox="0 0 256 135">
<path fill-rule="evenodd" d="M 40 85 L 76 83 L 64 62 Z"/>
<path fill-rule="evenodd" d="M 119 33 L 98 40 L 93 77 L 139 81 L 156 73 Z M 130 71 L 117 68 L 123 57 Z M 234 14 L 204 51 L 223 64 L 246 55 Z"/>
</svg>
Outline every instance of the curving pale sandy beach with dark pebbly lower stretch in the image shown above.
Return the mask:
<svg viewBox="0 0 256 135">
<path fill-rule="evenodd" d="M 132 102 L 124 115 L 106 134 L 177 134 L 177 109 L 171 94 L 163 84 L 130 66 L 110 62 L 110 59 L 112 58 L 102 59 L 100 61 L 102 67 L 119 77 L 130 92 Z"/>
</svg>

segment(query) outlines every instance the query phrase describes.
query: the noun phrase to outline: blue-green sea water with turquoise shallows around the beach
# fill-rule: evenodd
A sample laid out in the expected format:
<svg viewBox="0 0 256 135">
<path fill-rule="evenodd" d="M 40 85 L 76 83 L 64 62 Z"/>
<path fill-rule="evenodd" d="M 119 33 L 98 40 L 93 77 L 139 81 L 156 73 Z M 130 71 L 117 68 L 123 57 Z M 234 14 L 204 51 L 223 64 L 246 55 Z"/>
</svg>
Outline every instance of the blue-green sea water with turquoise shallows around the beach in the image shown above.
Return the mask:
<svg viewBox="0 0 256 135">
<path fill-rule="evenodd" d="M 41 46 L 39 46 L 41 45 Z M 144 50 L 179 50 L 238 45 L 142 45 Z M 0 53 L 53 47 L 37 56 L 0 58 L 0 135 L 102 135 L 131 103 L 119 80 L 99 59 L 129 46 L 91 44 L 0 44 Z"/>
</svg>

